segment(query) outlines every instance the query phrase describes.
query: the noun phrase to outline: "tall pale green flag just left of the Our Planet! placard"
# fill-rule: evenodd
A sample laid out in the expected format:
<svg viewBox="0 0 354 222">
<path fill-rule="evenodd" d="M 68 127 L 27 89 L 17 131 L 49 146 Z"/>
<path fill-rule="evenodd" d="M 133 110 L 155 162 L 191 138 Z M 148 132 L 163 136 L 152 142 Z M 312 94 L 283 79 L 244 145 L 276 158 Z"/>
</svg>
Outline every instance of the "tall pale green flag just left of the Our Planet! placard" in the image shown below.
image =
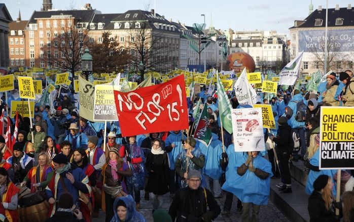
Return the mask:
<svg viewBox="0 0 354 222">
<path fill-rule="evenodd" d="M 232 106 L 230 100 L 226 94 L 223 84 L 220 81 L 219 74 L 217 74 L 217 87 L 218 87 L 218 99 L 219 99 L 219 117 L 223 128 L 232 134 L 232 121 L 231 110 Z"/>
</svg>

